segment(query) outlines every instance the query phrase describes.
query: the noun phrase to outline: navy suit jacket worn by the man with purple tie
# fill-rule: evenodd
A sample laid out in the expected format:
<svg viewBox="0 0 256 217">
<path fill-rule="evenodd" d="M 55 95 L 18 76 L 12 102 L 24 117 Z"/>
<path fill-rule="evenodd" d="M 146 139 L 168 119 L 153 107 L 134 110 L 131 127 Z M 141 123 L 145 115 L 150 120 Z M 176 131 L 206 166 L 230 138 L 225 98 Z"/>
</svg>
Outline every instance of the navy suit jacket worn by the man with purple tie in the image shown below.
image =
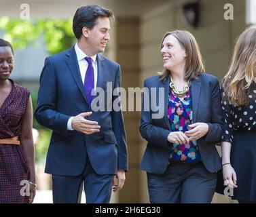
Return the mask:
<svg viewBox="0 0 256 217">
<path fill-rule="evenodd" d="M 113 89 L 120 87 L 120 65 L 100 54 L 96 61 L 96 86 L 105 90 L 107 102 L 107 82 L 112 82 Z M 110 98 L 114 101 L 117 96 L 111 95 Z M 86 152 L 97 174 L 116 174 L 117 170 L 128 170 L 122 111 L 107 111 L 106 108 L 107 103 L 104 111 L 96 111 L 86 117 L 98 122 L 100 132 L 86 135 L 76 130 L 68 131 L 67 122 L 71 116 L 92 111 L 84 92 L 75 48 L 45 59 L 35 118 L 52 130 L 46 173 L 65 176 L 81 174 L 86 165 Z"/>
</svg>

